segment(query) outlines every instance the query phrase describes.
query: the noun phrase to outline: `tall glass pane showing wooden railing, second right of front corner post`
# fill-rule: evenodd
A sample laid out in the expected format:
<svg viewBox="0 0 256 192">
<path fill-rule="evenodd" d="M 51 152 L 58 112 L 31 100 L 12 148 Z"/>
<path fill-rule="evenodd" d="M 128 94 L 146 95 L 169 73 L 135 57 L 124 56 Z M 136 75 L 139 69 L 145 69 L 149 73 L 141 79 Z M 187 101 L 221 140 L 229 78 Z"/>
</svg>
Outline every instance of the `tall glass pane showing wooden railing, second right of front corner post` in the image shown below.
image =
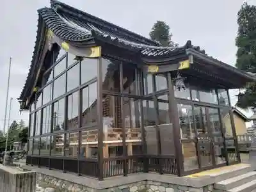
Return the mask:
<svg viewBox="0 0 256 192">
<path fill-rule="evenodd" d="M 142 154 L 140 111 L 141 100 L 135 100 L 127 97 L 123 97 L 123 99 L 127 154 L 128 156 Z"/>
</svg>

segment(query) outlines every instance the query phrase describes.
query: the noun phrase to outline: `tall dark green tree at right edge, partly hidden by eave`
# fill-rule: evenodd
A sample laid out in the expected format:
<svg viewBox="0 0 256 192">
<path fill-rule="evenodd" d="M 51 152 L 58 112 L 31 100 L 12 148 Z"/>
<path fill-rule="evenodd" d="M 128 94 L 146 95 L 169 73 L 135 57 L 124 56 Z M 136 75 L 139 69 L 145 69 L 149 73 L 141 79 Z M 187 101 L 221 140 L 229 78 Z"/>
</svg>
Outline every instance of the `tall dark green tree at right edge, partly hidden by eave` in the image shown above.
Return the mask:
<svg viewBox="0 0 256 192">
<path fill-rule="evenodd" d="M 236 67 L 256 73 L 256 6 L 244 3 L 237 13 Z M 237 101 L 240 108 L 256 107 L 256 84 L 250 83 Z"/>
</svg>

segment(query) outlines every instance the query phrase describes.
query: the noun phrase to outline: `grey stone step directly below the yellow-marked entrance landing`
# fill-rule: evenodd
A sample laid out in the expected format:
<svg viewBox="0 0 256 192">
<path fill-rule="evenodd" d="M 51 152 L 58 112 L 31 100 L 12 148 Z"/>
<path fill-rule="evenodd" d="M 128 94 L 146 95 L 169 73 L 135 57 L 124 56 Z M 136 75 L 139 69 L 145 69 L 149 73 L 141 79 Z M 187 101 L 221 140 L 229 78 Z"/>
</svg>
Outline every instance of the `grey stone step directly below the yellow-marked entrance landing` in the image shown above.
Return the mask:
<svg viewBox="0 0 256 192">
<path fill-rule="evenodd" d="M 256 179 L 256 172 L 248 172 L 214 184 L 215 189 L 228 191 Z"/>
</svg>

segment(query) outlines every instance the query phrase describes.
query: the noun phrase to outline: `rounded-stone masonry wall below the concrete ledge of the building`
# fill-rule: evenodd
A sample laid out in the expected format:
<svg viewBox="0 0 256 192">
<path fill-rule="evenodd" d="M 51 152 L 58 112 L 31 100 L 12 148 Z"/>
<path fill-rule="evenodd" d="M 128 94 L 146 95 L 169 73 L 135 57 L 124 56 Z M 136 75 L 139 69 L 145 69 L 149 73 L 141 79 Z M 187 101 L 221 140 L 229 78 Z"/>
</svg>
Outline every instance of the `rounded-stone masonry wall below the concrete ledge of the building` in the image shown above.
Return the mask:
<svg viewBox="0 0 256 192">
<path fill-rule="evenodd" d="M 177 184 L 167 184 L 164 182 L 155 182 L 152 180 L 142 180 L 139 182 L 132 182 L 129 184 L 121 185 L 121 186 L 112 186 L 110 188 L 89 188 L 87 186 L 75 184 L 74 182 L 71 182 L 69 180 L 62 180 L 57 179 L 55 177 L 51 177 L 49 175 L 44 175 L 42 173 L 37 174 L 37 180 L 38 184 L 40 182 L 49 184 L 49 186 L 54 186 L 56 191 L 60 190 L 63 192 L 184 192 L 184 191 L 190 191 L 190 192 L 210 192 L 213 191 L 213 185 L 210 184 L 208 186 L 204 186 L 202 188 L 193 188 L 189 186 L 181 186 Z"/>
</svg>

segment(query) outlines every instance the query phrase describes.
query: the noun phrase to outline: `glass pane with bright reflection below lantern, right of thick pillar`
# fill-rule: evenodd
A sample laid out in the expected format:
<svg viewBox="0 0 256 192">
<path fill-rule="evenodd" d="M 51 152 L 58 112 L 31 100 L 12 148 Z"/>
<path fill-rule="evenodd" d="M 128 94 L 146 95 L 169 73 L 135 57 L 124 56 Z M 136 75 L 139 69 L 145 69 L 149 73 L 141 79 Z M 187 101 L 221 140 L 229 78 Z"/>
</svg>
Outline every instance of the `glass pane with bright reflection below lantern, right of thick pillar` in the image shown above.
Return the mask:
<svg viewBox="0 0 256 192">
<path fill-rule="evenodd" d="M 180 137 L 182 139 L 195 138 L 195 125 L 193 121 L 193 112 L 190 105 L 178 104 L 180 120 Z"/>
</svg>

